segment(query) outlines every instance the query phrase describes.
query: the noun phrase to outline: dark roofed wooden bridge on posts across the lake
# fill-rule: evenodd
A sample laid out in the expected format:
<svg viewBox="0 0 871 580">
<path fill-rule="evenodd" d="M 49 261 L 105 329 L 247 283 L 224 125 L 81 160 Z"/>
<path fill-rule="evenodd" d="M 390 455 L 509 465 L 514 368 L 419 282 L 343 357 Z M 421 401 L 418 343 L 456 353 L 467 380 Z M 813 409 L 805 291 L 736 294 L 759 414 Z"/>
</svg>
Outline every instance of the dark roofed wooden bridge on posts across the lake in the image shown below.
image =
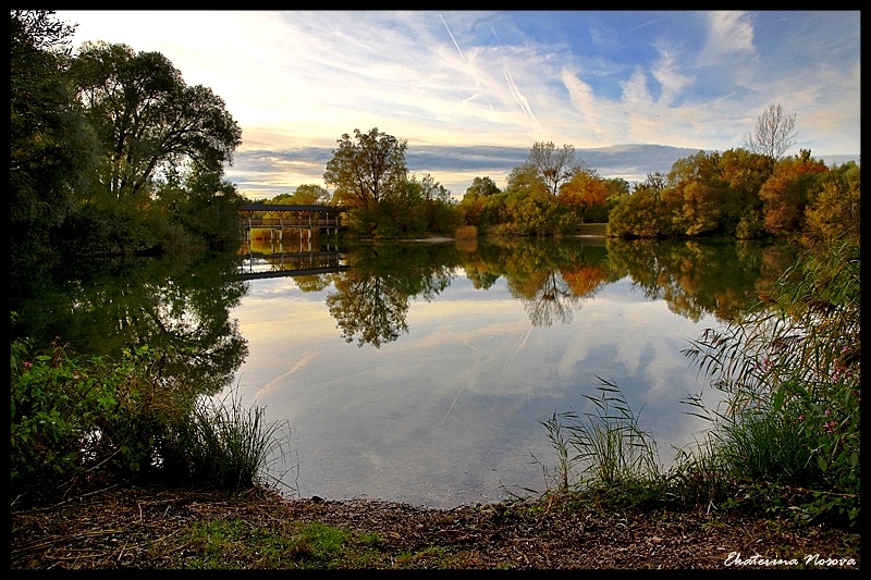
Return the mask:
<svg viewBox="0 0 871 580">
<path fill-rule="evenodd" d="M 250 242 L 252 230 L 269 230 L 269 236 L 283 236 L 284 230 L 298 230 L 311 238 L 311 232 L 334 234 L 342 227 L 344 206 L 290 206 L 281 203 L 248 203 L 238 210 L 240 232 Z M 278 232 L 278 234 L 275 234 Z"/>
</svg>

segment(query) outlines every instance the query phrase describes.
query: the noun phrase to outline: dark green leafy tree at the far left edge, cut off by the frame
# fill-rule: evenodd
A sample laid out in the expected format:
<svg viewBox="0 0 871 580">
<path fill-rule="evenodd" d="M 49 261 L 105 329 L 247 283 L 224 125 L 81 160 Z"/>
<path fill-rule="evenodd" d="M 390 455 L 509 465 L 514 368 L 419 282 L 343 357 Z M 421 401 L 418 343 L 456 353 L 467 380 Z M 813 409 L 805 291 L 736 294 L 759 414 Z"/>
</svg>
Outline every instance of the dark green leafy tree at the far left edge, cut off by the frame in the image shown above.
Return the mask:
<svg viewBox="0 0 871 580">
<path fill-rule="evenodd" d="M 12 258 L 33 264 L 51 252 L 50 230 L 87 187 L 96 140 L 65 75 L 74 26 L 42 10 L 14 10 L 10 20 Z"/>
</svg>

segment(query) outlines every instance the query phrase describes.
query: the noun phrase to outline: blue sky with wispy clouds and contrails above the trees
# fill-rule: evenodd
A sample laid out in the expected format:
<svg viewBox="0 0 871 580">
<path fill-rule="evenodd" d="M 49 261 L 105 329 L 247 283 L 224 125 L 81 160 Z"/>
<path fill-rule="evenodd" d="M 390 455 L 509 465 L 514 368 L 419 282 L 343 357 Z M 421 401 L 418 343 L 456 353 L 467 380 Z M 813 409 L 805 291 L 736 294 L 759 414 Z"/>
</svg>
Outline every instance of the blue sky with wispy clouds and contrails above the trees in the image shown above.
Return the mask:
<svg viewBox="0 0 871 580">
<path fill-rule="evenodd" d="M 859 161 L 859 11 L 57 11 L 85 41 L 158 51 L 242 127 L 225 176 L 249 198 L 326 185 L 342 135 L 407 141 L 456 197 L 505 187 L 536 143 L 641 182 L 745 146 L 770 103 L 796 144 Z"/>
</svg>

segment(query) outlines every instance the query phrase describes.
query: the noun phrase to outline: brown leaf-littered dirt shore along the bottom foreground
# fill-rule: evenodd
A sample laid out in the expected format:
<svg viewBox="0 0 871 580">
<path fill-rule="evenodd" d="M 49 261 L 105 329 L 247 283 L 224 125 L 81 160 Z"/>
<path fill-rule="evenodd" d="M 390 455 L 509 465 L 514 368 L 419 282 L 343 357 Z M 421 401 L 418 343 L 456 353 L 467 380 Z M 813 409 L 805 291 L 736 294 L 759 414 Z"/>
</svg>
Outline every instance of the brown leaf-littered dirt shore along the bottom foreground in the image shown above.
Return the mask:
<svg viewBox="0 0 871 580">
<path fill-rule="evenodd" d="M 11 565 L 12 569 L 195 567 L 192 563 L 201 562 L 197 558 L 203 548 L 184 540 L 189 535 L 184 531 L 231 519 L 244 521 L 250 538 L 290 536 L 300 525 L 315 521 L 376 534 L 378 556 L 369 565 L 372 568 L 858 570 L 860 566 L 858 534 L 738 514 L 604 513 L 559 501 L 538 504 L 536 509 L 529 504 L 427 509 L 379 501 L 285 499 L 265 491 L 230 495 L 144 488 L 112 490 L 49 508 L 13 506 Z M 234 558 L 229 560 L 234 568 L 262 568 L 262 558 L 246 556 L 258 553 L 250 548 L 225 557 Z"/>
</svg>

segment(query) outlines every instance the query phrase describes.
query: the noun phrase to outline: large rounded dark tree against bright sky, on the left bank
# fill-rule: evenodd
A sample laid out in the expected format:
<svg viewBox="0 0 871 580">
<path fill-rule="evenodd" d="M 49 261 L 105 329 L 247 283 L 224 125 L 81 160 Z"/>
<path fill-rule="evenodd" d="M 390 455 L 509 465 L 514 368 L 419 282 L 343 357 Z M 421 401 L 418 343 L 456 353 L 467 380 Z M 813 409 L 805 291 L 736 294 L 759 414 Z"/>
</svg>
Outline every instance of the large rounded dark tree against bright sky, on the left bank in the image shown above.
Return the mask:
<svg viewBox="0 0 871 580">
<path fill-rule="evenodd" d="M 232 164 L 242 129 L 224 101 L 187 86 L 160 52 L 86 42 L 72 64 L 78 95 L 103 147 L 103 189 L 135 196 L 161 173 L 220 172 Z"/>
</svg>

